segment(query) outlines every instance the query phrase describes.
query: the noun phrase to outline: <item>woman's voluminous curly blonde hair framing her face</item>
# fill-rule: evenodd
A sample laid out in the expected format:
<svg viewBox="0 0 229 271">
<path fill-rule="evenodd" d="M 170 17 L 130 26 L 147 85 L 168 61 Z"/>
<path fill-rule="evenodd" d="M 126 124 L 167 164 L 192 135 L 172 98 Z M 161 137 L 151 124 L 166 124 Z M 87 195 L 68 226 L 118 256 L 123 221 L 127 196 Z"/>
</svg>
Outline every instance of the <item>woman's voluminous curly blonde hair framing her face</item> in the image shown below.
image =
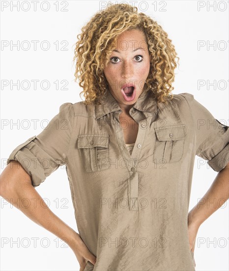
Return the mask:
<svg viewBox="0 0 229 271">
<path fill-rule="evenodd" d="M 118 35 L 126 30 L 143 31 L 148 44 L 150 69 L 144 84 L 145 91 L 150 91 L 157 102 L 172 100 L 174 89 L 174 69 L 177 67 L 176 51 L 172 40 L 156 21 L 144 13 L 138 13 L 137 7 L 129 4 L 109 4 L 97 12 L 77 35 L 74 49 L 76 61 L 75 82 L 83 87 L 85 104 L 99 102 L 99 98 L 108 89 L 108 81 L 103 72 L 109 62 L 109 56 L 115 48 Z M 79 74 L 80 73 L 80 74 Z"/>
</svg>

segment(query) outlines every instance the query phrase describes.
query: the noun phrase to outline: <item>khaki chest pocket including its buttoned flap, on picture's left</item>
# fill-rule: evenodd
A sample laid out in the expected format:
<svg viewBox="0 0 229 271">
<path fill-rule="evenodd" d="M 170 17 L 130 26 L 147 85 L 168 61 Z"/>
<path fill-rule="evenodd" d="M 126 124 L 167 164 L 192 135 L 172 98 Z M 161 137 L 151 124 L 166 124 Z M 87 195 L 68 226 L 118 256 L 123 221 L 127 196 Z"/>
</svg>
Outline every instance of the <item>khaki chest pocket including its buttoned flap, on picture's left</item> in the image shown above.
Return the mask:
<svg viewBox="0 0 229 271">
<path fill-rule="evenodd" d="M 109 135 L 79 135 L 77 146 L 86 172 L 109 169 Z"/>
</svg>

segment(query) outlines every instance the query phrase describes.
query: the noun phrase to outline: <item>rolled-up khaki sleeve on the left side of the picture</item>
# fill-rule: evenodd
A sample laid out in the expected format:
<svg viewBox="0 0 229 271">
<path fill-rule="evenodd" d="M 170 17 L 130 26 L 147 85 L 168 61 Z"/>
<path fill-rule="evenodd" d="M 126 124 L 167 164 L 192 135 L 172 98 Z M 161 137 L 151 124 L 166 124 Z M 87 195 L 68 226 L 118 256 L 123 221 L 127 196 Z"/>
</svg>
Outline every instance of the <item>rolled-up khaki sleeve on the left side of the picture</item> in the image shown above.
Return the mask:
<svg viewBox="0 0 229 271">
<path fill-rule="evenodd" d="M 58 114 L 39 135 L 33 135 L 11 152 L 7 165 L 11 160 L 18 161 L 31 176 L 32 186 L 40 185 L 59 166 L 66 164 L 73 123 L 73 104 L 61 104 Z"/>
</svg>

